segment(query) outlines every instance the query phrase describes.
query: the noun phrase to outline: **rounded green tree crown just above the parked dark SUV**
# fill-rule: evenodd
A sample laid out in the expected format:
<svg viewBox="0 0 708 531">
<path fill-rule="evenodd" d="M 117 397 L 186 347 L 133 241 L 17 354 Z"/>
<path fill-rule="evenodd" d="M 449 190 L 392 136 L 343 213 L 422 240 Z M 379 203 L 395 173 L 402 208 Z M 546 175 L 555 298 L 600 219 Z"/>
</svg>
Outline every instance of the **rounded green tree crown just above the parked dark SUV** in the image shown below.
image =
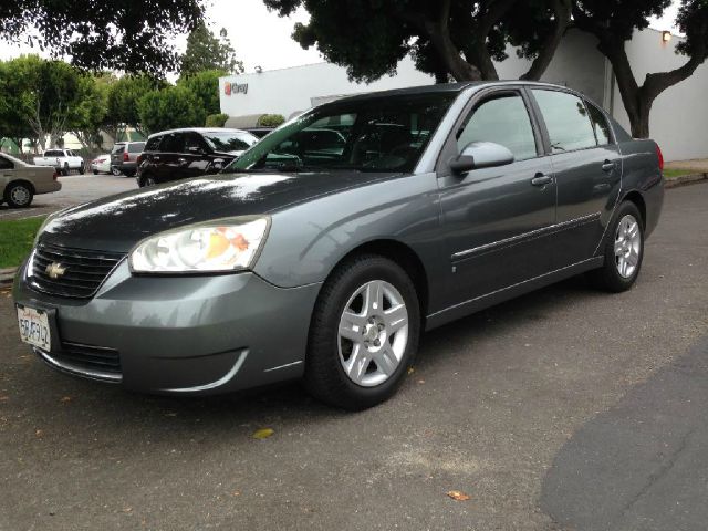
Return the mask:
<svg viewBox="0 0 708 531">
<path fill-rule="evenodd" d="M 197 96 L 179 85 L 148 92 L 137 106 L 146 133 L 198 127 L 205 123 L 206 113 Z"/>
</svg>

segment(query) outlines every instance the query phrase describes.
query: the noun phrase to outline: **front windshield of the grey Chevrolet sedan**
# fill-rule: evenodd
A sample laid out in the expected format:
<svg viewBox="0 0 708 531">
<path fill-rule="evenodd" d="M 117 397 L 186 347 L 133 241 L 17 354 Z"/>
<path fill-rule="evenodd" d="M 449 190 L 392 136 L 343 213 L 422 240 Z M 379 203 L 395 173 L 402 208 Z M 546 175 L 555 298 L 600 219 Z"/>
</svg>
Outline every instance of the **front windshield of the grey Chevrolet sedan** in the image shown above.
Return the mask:
<svg viewBox="0 0 708 531">
<path fill-rule="evenodd" d="M 263 138 L 227 171 L 412 171 L 455 94 L 335 102 Z"/>
</svg>

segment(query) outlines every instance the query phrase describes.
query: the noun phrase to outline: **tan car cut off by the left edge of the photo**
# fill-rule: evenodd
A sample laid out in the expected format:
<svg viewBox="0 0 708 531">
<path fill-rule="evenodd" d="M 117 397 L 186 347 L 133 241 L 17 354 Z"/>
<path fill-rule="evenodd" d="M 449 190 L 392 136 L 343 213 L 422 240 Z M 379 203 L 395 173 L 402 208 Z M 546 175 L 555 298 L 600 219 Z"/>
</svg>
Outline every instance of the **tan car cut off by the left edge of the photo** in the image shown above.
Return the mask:
<svg viewBox="0 0 708 531">
<path fill-rule="evenodd" d="M 10 207 L 29 207 L 37 194 L 59 191 L 54 168 L 32 166 L 19 158 L 0 154 L 0 202 Z"/>
</svg>

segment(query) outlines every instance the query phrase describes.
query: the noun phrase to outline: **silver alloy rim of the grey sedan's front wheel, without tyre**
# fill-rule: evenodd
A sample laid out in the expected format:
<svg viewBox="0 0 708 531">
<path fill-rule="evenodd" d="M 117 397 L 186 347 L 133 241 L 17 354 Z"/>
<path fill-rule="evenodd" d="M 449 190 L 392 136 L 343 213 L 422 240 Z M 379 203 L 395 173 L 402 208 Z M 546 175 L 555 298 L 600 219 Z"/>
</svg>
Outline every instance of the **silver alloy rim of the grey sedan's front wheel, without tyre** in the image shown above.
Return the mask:
<svg viewBox="0 0 708 531">
<path fill-rule="evenodd" d="M 386 382 L 408 343 L 408 310 L 388 282 L 372 280 L 348 299 L 340 319 L 339 354 L 346 376 L 363 387 Z"/>
</svg>

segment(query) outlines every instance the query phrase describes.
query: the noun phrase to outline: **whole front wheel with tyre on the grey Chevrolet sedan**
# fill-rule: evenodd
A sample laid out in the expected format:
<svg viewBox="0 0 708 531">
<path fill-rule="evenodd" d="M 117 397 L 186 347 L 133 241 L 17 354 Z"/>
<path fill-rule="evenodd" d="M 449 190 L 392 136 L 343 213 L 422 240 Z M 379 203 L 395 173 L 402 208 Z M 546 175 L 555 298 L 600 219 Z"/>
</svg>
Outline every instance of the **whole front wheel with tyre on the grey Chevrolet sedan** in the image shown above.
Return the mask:
<svg viewBox="0 0 708 531">
<path fill-rule="evenodd" d="M 376 254 L 354 258 L 332 273 L 317 299 L 305 385 L 337 407 L 375 406 L 403 382 L 419 334 L 418 298 L 406 272 Z"/>
</svg>

